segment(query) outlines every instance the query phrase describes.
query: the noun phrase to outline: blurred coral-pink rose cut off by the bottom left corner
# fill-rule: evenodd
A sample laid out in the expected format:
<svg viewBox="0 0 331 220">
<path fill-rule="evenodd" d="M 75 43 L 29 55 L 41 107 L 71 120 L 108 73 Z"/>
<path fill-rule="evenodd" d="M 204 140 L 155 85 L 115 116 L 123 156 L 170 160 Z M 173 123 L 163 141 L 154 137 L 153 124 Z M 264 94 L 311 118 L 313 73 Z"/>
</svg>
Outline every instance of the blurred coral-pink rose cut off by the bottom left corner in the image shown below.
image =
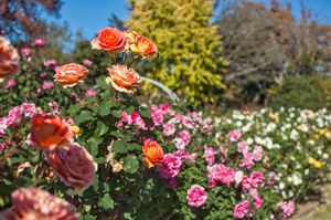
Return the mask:
<svg viewBox="0 0 331 220">
<path fill-rule="evenodd" d="M 2 211 L 4 220 L 78 220 L 79 214 L 67 201 L 38 188 L 20 188 L 12 192 L 12 207 Z"/>
</svg>

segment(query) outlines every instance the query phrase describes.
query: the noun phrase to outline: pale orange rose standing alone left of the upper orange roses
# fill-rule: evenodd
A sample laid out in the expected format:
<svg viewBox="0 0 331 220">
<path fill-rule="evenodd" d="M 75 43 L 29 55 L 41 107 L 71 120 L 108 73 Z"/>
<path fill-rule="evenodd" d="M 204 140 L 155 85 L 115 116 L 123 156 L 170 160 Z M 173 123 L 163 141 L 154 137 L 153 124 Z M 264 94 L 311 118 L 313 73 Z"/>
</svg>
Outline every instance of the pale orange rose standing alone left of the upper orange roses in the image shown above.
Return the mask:
<svg viewBox="0 0 331 220">
<path fill-rule="evenodd" d="M 64 87 L 75 86 L 78 82 L 82 82 L 88 70 L 77 63 L 70 63 L 55 69 L 54 78 L 57 82 L 61 82 Z"/>
</svg>

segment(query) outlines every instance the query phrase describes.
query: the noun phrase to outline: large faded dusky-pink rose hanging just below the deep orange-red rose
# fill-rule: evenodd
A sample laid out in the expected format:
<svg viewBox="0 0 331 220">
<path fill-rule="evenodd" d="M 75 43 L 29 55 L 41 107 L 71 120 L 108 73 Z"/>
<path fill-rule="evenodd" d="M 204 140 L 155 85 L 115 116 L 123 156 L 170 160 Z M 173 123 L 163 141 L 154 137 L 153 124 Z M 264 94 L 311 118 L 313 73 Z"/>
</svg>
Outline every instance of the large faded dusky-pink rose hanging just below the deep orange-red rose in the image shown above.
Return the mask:
<svg viewBox="0 0 331 220">
<path fill-rule="evenodd" d="M 84 147 L 70 142 L 50 151 L 49 164 L 60 179 L 75 190 L 88 187 L 97 171 L 92 155 Z"/>
</svg>

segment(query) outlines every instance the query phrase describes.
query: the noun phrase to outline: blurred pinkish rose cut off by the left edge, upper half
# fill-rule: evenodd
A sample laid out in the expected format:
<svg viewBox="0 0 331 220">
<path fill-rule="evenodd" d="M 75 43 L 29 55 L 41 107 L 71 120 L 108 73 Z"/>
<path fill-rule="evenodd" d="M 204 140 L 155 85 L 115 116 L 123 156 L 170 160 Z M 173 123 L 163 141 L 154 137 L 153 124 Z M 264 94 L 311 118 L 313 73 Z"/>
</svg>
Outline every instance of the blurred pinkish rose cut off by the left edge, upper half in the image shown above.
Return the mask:
<svg viewBox="0 0 331 220">
<path fill-rule="evenodd" d="M 6 38 L 0 36 L 0 77 L 18 73 L 19 60 L 18 51 Z"/>
</svg>

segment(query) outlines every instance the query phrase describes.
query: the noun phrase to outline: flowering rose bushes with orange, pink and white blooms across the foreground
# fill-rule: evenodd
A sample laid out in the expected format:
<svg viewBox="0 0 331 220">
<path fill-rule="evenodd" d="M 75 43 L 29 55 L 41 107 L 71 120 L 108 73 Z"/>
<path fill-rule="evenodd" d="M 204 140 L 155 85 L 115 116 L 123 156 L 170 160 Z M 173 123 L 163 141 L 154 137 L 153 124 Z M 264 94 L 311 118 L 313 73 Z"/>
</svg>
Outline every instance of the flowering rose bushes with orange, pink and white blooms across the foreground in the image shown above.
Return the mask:
<svg viewBox="0 0 331 220">
<path fill-rule="evenodd" d="M 279 219 L 293 214 L 296 202 L 328 180 L 327 111 L 217 116 L 180 105 L 140 105 L 134 96 L 139 73 L 127 64 L 138 55 L 150 57 L 156 45 L 113 28 L 100 30 L 92 45 L 113 57 L 103 76 L 76 64 L 55 69 L 49 60 L 45 74 L 61 76 L 53 85 L 61 101 L 52 93 L 44 94 L 47 102 L 25 95 L 35 104 L 2 109 L 0 206 L 10 207 L 12 193 L 13 214 L 28 207 L 38 218 L 56 218 L 63 207 L 68 218 L 77 218 L 66 202 L 40 192 L 56 200 L 54 213 L 43 212 L 30 190 L 21 189 L 40 187 L 72 203 L 83 219 Z M 19 77 L 29 78 L 24 74 Z M 17 191 L 30 203 L 17 201 Z"/>
</svg>

